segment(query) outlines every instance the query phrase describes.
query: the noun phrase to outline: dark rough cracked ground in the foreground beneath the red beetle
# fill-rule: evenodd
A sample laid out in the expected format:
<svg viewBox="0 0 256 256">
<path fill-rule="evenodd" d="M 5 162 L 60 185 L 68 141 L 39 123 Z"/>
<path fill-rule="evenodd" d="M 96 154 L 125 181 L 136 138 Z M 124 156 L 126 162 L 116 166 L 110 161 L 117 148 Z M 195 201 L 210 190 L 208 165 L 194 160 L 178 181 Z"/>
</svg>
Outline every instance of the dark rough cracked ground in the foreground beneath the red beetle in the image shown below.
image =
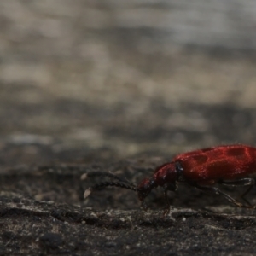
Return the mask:
<svg viewBox="0 0 256 256">
<path fill-rule="evenodd" d="M 89 184 L 79 177 L 85 171 L 125 170 L 124 177 L 133 180 L 150 166 L 147 159 L 132 158 L 2 172 L 1 255 L 254 255 L 256 211 L 188 187 L 179 188 L 166 216 L 159 191 L 148 198 L 147 212 L 132 191 L 96 191 L 83 201 Z"/>
</svg>

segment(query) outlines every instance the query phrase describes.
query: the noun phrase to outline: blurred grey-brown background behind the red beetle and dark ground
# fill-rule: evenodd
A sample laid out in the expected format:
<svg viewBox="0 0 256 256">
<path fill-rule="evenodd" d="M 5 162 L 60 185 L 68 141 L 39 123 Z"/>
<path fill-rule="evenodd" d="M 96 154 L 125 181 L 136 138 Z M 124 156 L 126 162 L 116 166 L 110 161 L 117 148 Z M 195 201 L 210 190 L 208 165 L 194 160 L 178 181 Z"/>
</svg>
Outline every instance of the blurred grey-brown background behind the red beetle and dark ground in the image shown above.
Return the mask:
<svg viewBox="0 0 256 256">
<path fill-rule="evenodd" d="M 2 0 L 0 166 L 256 144 L 256 3 Z"/>
</svg>

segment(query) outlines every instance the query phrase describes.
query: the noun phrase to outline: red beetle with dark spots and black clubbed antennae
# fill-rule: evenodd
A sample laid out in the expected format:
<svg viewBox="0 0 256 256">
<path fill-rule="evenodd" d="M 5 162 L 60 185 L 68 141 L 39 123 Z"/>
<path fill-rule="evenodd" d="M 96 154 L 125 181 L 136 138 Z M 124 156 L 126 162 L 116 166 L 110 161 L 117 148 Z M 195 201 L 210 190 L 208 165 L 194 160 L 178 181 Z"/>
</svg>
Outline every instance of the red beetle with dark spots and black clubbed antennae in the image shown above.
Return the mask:
<svg viewBox="0 0 256 256">
<path fill-rule="evenodd" d="M 255 208 L 243 205 L 230 195 L 214 187 L 215 183 L 228 186 L 249 186 L 247 191 L 255 184 L 253 177 L 248 177 L 256 172 L 256 148 L 247 145 L 229 145 L 204 148 L 188 153 L 177 154 L 172 162 L 156 168 L 154 175 L 143 179 L 138 185 L 127 182 L 125 179 L 107 172 L 90 172 L 82 176 L 108 176 L 118 179 L 119 182 L 98 183 L 84 192 L 84 198 L 90 195 L 92 189 L 105 186 L 115 186 L 137 191 L 140 201 L 144 201 L 150 191 L 158 186 L 164 188 L 166 201 L 167 191 L 175 191 L 178 183 L 189 183 L 197 189 L 216 195 L 223 195 L 237 207 Z"/>
</svg>

